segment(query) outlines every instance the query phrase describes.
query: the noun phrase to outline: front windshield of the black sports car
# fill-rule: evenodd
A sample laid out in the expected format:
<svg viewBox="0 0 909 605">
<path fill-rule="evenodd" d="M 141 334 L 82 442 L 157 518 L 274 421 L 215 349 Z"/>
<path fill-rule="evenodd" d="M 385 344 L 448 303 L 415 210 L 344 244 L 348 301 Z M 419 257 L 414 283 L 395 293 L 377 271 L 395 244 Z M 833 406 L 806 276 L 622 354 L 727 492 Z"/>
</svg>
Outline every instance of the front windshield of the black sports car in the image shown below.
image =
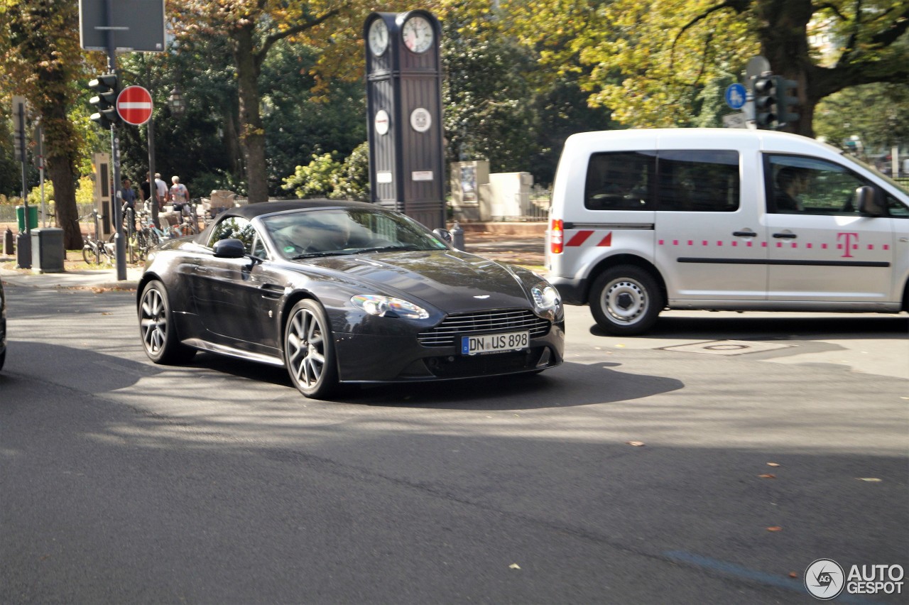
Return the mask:
<svg viewBox="0 0 909 605">
<path fill-rule="evenodd" d="M 447 246 L 404 214 L 369 208 L 325 208 L 274 214 L 265 231 L 292 260 L 373 252 L 442 250 Z"/>
</svg>

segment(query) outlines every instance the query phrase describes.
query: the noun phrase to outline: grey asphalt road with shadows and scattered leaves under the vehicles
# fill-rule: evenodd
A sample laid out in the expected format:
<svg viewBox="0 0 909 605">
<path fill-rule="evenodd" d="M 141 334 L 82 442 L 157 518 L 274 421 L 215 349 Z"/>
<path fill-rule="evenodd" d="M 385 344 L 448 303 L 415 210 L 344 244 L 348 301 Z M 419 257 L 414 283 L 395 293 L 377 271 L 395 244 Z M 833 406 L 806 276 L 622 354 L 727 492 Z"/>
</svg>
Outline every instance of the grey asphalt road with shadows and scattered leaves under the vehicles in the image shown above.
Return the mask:
<svg viewBox="0 0 909 605">
<path fill-rule="evenodd" d="M 909 568 L 905 315 L 569 308 L 539 376 L 316 402 L 148 362 L 131 293 L 7 296 L 0 602 L 804 603 L 813 560 Z"/>
</svg>

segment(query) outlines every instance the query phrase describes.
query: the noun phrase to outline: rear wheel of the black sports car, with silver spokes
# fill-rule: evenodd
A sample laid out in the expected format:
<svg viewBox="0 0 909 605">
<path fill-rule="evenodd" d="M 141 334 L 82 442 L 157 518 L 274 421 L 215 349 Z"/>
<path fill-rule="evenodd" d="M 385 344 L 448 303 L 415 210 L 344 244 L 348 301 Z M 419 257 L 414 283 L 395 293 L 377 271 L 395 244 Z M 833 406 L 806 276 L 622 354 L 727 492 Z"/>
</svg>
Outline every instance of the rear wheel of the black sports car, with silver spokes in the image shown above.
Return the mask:
<svg viewBox="0 0 909 605">
<path fill-rule="evenodd" d="M 165 285 L 156 280 L 149 282 L 145 285 L 140 300 L 139 332 L 148 359 L 162 364 L 185 363 L 192 360 L 195 349 L 187 347 L 179 340 Z"/>
</svg>

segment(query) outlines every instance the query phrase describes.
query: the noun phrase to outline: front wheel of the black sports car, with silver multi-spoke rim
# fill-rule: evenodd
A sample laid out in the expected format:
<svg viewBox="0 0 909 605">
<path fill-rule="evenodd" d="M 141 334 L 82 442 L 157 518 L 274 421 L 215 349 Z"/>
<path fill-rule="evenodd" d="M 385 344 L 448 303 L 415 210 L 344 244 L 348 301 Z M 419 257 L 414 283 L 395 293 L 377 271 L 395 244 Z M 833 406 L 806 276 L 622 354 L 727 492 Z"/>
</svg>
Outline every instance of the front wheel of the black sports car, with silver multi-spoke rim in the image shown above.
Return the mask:
<svg viewBox="0 0 909 605">
<path fill-rule="evenodd" d="M 285 366 L 294 386 L 306 397 L 325 399 L 336 392 L 335 340 L 322 306 L 297 302 L 285 325 Z"/>
</svg>

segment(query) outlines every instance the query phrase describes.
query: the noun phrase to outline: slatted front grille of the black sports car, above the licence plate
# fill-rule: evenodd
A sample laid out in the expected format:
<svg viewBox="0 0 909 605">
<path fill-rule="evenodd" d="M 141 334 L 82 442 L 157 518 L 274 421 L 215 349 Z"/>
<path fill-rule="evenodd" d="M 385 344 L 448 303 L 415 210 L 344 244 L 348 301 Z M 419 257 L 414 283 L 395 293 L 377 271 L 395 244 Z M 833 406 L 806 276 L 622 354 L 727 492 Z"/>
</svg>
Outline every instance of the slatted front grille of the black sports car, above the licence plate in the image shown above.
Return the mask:
<svg viewBox="0 0 909 605">
<path fill-rule="evenodd" d="M 458 334 L 484 334 L 520 332 L 527 330 L 531 338 L 549 332 L 550 322 L 526 310 L 500 310 L 474 313 L 455 313 L 427 332 L 417 335 L 417 342 L 425 347 L 449 347 Z"/>
</svg>

